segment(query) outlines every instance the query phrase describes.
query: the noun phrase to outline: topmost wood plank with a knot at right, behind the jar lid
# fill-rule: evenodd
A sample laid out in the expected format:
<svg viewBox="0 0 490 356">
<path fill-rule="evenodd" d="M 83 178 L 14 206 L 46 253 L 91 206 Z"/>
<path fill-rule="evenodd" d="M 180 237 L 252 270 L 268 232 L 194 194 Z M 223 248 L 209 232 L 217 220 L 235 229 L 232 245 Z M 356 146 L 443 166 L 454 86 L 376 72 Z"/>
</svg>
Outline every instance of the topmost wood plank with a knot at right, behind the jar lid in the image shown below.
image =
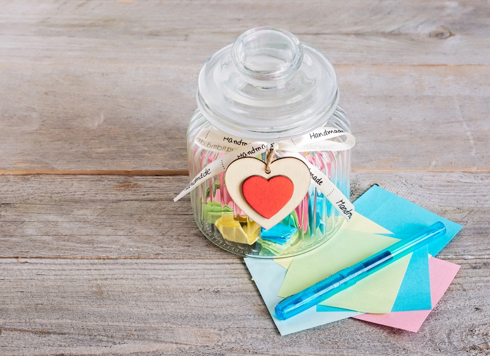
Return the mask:
<svg viewBox="0 0 490 356">
<path fill-rule="evenodd" d="M 0 14 L 0 62 L 200 64 L 272 24 L 338 64 L 489 64 L 489 14 L 486 1 L 18 0 Z"/>
</svg>

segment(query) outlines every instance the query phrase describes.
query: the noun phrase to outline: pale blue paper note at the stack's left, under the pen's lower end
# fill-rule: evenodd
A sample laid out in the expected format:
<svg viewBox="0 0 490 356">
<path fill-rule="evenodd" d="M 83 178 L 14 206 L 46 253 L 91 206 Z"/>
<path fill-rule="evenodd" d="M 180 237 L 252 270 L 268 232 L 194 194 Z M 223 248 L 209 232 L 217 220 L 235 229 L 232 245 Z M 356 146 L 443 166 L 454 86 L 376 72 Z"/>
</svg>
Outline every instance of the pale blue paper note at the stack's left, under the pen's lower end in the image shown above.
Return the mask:
<svg viewBox="0 0 490 356">
<path fill-rule="evenodd" d="M 335 310 L 330 313 L 318 313 L 316 307 L 312 307 L 288 320 L 276 319 L 274 316 L 274 307 L 283 300 L 283 298 L 277 296 L 277 293 L 288 270 L 271 260 L 246 257 L 244 261 L 281 335 L 287 335 L 362 314 L 337 308 L 332 308 Z M 267 273 L 264 273 L 265 271 Z"/>
</svg>

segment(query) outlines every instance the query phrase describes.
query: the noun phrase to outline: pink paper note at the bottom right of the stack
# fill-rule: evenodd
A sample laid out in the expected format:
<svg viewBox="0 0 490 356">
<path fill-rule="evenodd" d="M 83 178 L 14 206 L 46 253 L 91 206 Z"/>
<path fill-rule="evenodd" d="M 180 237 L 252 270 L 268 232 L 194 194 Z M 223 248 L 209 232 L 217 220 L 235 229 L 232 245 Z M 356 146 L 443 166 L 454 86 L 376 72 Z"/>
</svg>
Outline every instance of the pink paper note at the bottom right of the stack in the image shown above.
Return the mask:
<svg viewBox="0 0 490 356">
<path fill-rule="evenodd" d="M 460 269 L 459 264 L 443 261 L 431 257 L 429 259 L 430 292 L 432 308 L 436 306 L 444 292 Z M 393 328 L 417 332 L 425 321 L 430 310 L 393 311 L 388 314 L 362 314 L 354 316 L 355 319 L 365 320 L 375 324 L 391 326 Z"/>
</svg>

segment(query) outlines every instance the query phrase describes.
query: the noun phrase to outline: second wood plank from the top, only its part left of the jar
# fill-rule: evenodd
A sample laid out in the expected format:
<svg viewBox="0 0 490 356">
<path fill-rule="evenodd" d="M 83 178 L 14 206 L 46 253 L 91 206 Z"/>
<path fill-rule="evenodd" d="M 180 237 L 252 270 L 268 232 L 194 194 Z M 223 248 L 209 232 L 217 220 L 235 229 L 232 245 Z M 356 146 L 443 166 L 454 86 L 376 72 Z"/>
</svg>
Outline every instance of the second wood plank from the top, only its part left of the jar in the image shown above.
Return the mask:
<svg viewBox="0 0 490 356">
<path fill-rule="evenodd" d="M 187 168 L 198 69 L 1 66 L 1 169 Z"/>
</svg>

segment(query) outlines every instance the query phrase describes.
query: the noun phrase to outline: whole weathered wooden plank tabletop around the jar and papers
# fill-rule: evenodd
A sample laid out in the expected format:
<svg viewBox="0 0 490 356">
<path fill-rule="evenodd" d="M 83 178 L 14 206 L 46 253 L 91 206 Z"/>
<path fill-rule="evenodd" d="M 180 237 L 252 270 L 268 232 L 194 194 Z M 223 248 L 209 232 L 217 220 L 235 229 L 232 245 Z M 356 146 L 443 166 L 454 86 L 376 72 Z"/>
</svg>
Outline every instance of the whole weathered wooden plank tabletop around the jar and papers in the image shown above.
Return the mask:
<svg viewBox="0 0 490 356">
<path fill-rule="evenodd" d="M 262 25 L 335 65 L 354 198 L 376 183 L 465 226 L 419 332 L 281 337 L 172 201 L 201 66 Z M 0 355 L 489 355 L 489 38 L 488 1 L 3 1 Z"/>
</svg>

